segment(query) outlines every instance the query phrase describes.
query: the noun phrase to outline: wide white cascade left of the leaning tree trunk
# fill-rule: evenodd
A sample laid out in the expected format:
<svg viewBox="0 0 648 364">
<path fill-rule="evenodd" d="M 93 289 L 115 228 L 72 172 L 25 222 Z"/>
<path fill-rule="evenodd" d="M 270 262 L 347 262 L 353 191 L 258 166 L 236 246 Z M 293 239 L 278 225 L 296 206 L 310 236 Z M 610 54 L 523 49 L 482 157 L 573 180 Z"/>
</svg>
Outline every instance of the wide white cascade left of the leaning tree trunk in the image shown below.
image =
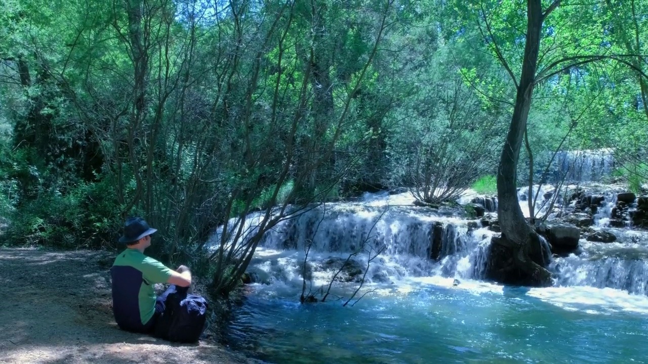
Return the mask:
<svg viewBox="0 0 648 364">
<path fill-rule="evenodd" d="M 259 215 L 248 218 L 244 231 L 254 231 Z M 365 282 L 385 282 L 404 277 L 440 275 L 452 278 L 483 276 L 485 249 L 493 233 L 469 228 L 467 220 L 439 216 L 427 209 L 371 207 L 362 203 L 336 203 L 285 220 L 264 235 L 250 270 L 262 280 L 288 280 L 301 284 L 301 268 L 308 250 L 314 271 L 336 266 L 331 259 L 351 258 L 362 267 L 373 260 Z M 218 239 L 218 234 L 214 240 Z M 269 262 L 272 259 L 281 262 Z M 327 263 L 329 262 L 329 263 Z M 301 270 L 300 270 L 301 269 Z M 288 273 L 291 272 L 291 273 Z M 359 271 L 358 271 L 359 273 Z M 330 274 L 319 275 L 316 283 L 325 284 Z"/>
</svg>

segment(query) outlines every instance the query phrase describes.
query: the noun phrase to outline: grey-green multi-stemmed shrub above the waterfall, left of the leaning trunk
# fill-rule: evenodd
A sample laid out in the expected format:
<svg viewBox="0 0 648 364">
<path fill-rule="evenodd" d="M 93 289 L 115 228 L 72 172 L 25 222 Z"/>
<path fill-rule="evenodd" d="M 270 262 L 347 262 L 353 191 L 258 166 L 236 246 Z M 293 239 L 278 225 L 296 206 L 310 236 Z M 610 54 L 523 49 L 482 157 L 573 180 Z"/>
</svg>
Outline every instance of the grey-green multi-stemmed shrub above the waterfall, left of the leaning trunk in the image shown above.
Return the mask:
<svg viewBox="0 0 648 364">
<path fill-rule="evenodd" d="M 426 203 L 455 199 L 478 176 L 492 173 L 507 122 L 506 109 L 485 102 L 461 67 L 474 64 L 461 52 L 469 46 L 453 46 L 439 46 L 404 76 L 416 87 L 395 113 L 402 121 L 389 135 L 393 184 L 412 186 Z"/>
</svg>

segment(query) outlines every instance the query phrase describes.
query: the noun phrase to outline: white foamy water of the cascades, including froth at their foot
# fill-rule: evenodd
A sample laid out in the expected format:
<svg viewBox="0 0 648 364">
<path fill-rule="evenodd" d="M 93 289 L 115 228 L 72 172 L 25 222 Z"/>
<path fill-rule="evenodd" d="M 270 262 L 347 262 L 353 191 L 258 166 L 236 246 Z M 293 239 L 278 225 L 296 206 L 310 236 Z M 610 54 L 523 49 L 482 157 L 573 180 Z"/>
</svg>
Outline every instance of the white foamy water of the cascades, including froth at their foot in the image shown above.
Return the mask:
<svg viewBox="0 0 648 364">
<path fill-rule="evenodd" d="M 552 187 L 535 186 L 534 194 L 538 188 L 538 201 L 550 198 Z M 521 188 L 520 194 L 526 191 Z M 469 192 L 461 201 L 476 196 Z M 264 236 L 249 266 L 255 286 L 273 295 L 298 295 L 306 276 L 307 291 L 316 291 L 328 286 L 341 263 L 356 252 L 348 269 L 341 269 L 332 292 L 348 295 L 364 277 L 363 291 L 375 290 L 373 295 L 406 294 L 429 285 L 506 294 L 503 286 L 482 280 L 495 233 L 481 227 L 479 220 L 463 218 L 461 209 L 435 211 L 412 206 L 412 201 L 408 193 L 365 194 L 359 201 L 330 203 L 326 212 L 318 207 L 279 223 Z M 605 194 L 594 229 L 607 229 L 605 221 L 615 202 L 616 191 Z M 527 201 L 520 201 L 520 206 L 527 207 Z M 244 230 L 253 231 L 260 218 L 261 214 L 251 215 Z M 555 286 L 533 288 L 526 294 L 565 310 L 645 312 L 648 235 L 629 229 L 611 231 L 618 242 L 581 239 L 580 255 L 547 257 Z M 214 242 L 217 238 L 218 234 Z M 367 270 L 367 260 L 378 251 Z"/>
</svg>

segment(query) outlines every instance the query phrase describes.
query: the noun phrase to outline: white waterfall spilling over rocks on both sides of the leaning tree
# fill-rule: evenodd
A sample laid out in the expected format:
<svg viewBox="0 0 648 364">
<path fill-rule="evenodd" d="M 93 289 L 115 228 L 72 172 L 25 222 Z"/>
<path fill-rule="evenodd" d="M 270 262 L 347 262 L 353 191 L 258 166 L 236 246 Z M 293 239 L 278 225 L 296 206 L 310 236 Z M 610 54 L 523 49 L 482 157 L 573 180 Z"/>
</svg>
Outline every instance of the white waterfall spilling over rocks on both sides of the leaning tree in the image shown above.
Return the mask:
<svg viewBox="0 0 648 364">
<path fill-rule="evenodd" d="M 544 212 L 546 201 L 555 192 L 550 185 L 544 185 L 534 186 L 533 193 L 538 189 L 537 209 Z M 520 207 L 526 210 L 526 216 L 527 201 L 523 197 L 528 198 L 527 191 L 527 187 L 518 191 Z M 610 227 L 617 193 L 597 190 L 596 194 L 581 194 L 565 205 L 570 210 L 592 209 L 592 231 L 612 231 L 617 237 L 615 242 L 589 242 L 585 238 L 590 231 L 583 233 L 576 254 L 551 256 L 550 244 L 540 238 L 543 259 L 555 277 L 556 286 L 591 286 L 648 294 L 648 244 L 642 244 L 648 241 L 648 232 Z M 387 207 L 393 203 L 392 198 L 406 201 L 407 194 L 382 194 L 369 196 L 367 201 L 329 203 L 284 219 L 264 234 L 249 271 L 259 277 L 257 282 L 281 282 L 293 288 L 301 287 L 303 277 L 325 284 L 340 267 L 345 271 L 336 277 L 340 282 L 359 282 L 367 266 L 365 282 L 377 284 L 397 284 L 400 280 L 419 277 L 472 280 L 485 277 L 491 238 L 496 234 L 489 227 L 482 227 L 480 220 L 462 217 L 461 207 L 454 213 L 413 205 Z M 475 203 L 476 199 L 472 195 L 461 201 Z M 263 218 L 260 212 L 250 214 L 243 231 L 249 236 Z M 230 220 L 228 226 L 234 231 L 238 220 Z M 212 246 L 218 245 L 220 234 L 222 227 L 211 238 Z M 371 257 L 374 258 L 367 264 Z M 304 271 L 305 258 L 307 271 Z"/>
</svg>

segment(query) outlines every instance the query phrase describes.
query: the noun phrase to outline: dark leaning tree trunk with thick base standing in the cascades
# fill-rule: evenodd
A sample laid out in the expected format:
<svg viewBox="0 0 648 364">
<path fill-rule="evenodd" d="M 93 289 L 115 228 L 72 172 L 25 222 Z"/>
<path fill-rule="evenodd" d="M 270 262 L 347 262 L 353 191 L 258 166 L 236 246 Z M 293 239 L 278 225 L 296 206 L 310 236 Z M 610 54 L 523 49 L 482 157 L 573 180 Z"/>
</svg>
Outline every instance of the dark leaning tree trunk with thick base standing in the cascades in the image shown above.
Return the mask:
<svg viewBox="0 0 648 364">
<path fill-rule="evenodd" d="M 504 142 L 497 174 L 498 219 L 502 237 L 493 239 L 491 254 L 491 277 L 502 282 L 515 282 L 532 286 L 546 286 L 551 283 L 550 273 L 543 264 L 538 251 L 542 251 L 537 233 L 526 222 L 516 186 L 516 170 L 520 147 L 526 130 L 531 97 L 535 85 L 535 74 L 540 50 L 542 29 L 542 6 L 540 0 L 527 1 L 527 36 L 524 47 L 522 74 L 517 89 L 511 126 Z M 533 256 L 533 258 L 531 258 Z M 534 259 L 535 258 L 535 259 Z"/>
</svg>

